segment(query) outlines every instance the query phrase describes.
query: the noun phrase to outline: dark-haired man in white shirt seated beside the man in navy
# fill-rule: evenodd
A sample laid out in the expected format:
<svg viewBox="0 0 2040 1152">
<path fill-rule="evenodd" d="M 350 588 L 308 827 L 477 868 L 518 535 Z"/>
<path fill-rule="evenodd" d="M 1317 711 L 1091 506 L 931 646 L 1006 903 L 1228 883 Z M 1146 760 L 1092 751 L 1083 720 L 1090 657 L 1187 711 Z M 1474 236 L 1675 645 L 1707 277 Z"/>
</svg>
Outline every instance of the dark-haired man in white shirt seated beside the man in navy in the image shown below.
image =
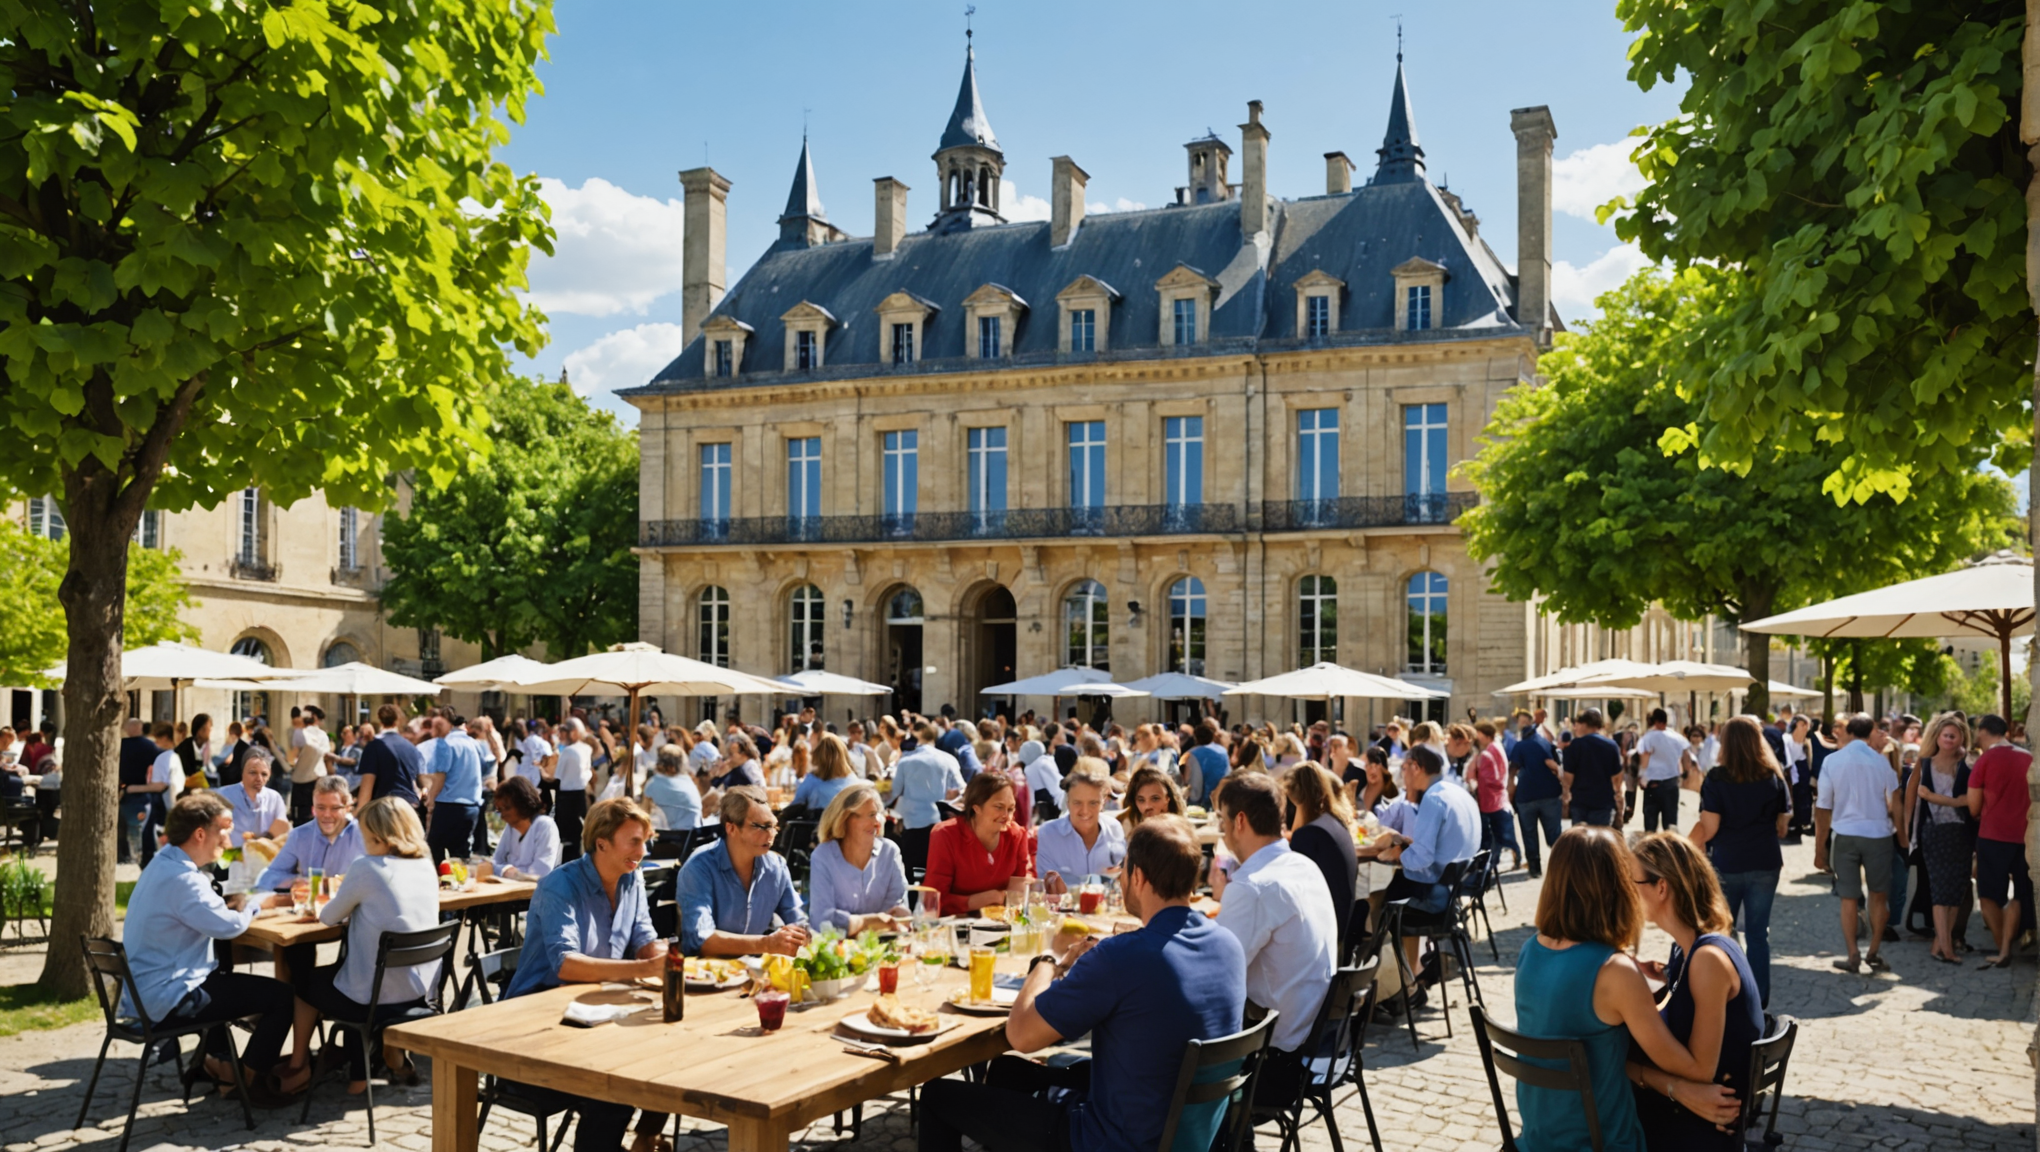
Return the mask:
<svg viewBox="0 0 2040 1152">
<path fill-rule="evenodd" d="M 1212 869 L 1218 926 L 1246 952 L 1246 999 L 1281 1013 L 1261 1064 L 1259 1101 L 1295 1099 L 1310 1056 L 1304 1044 L 1338 968 L 1332 889 L 1318 865 L 1289 850 L 1279 787 L 1267 773 L 1232 773 L 1216 793 L 1220 836 L 1238 860 L 1232 877 Z"/>
</svg>

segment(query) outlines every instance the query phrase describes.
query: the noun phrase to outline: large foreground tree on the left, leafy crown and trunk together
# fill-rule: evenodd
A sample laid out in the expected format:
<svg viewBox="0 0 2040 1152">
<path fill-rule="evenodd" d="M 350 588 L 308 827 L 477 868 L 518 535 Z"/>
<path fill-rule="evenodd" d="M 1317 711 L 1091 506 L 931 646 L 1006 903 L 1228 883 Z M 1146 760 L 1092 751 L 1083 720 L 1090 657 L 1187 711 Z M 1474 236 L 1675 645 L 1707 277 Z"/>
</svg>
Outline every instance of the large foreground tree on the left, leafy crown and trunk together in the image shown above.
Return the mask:
<svg viewBox="0 0 2040 1152">
<path fill-rule="evenodd" d="M 0 0 L 0 420 L 47 447 L 0 483 L 71 528 L 53 938 L 112 932 L 143 508 L 373 508 L 486 447 L 475 396 L 543 341 L 545 206 L 492 149 L 551 29 L 547 0 Z M 78 952 L 43 983 L 86 995 Z"/>
</svg>

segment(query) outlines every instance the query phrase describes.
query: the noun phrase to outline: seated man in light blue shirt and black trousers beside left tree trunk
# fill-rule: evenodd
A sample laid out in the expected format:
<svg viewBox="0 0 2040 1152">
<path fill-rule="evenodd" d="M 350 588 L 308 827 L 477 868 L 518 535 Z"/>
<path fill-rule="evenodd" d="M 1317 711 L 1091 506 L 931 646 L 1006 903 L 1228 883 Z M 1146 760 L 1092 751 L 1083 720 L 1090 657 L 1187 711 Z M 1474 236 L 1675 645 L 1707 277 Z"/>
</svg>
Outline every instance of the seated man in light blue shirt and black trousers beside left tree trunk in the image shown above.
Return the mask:
<svg viewBox="0 0 2040 1152">
<path fill-rule="evenodd" d="M 212 891 L 204 869 L 226 850 L 233 830 L 235 814 L 216 793 L 194 791 L 180 797 L 163 822 L 163 848 L 143 869 L 129 897 L 122 940 L 141 1009 L 149 1019 L 220 1024 L 206 1034 L 206 1075 L 216 1083 L 233 1085 L 226 1024 L 259 1017 L 241 1054 L 249 1072 L 243 1091 L 257 1107 L 282 1107 L 288 1095 L 304 1091 L 312 1081 L 310 1068 L 300 1068 L 275 1087 L 265 1079 L 284 1052 L 298 997 L 284 981 L 220 971 L 212 942 L 241 936 L 261 909 L 290 905 L 290 895 L 249 901 L 243 895 L 220 899 Z M 122 993 L 120 1011 L 133 1013 L 135 1007 Z"/>
</svg>

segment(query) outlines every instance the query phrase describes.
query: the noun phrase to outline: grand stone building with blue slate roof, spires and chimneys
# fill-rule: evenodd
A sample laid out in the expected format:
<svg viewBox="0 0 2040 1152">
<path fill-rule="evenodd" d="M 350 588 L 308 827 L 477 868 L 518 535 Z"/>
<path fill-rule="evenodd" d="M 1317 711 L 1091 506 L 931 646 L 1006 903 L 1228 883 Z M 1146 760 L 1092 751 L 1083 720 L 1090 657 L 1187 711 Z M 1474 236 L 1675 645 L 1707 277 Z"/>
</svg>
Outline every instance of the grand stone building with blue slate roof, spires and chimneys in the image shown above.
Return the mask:
<svg viewBox="0 0 2040 1152">
<path fill-rule="evenodd" d="M 622 394 L 643 638 L 930 712 L 1063 665 L 1244 681 L 1314 661 L 1444 687 L 1432 714 L 1493 710 L 1559 652 L 1452 526 L 1475 500 L 1452 465 L 1561 330 L 1557 133 L 1546 108 L 1510 122 L 1516 271 L 1430 181 L 1399 63 L 1359 184 L 1332 151 L 1322 192 L 1277 196 L 1248 102 L 1236 151 L 1185 145 L 1175 202 L 1087 216 L 1087 173 L 1055 157 L 1053 218 L 1008 222 L 967 55 L 926 228 L 879 177 L 877 234 L 847 237 L 804 143 L 779 241 L 730 287 L 730 181 L 683 171 L 687 345 Z M 1265 712 L 1287 705 L 1232 708 Z M 1422 705 L 1348 722 L 1389 712 Z"/>
</svg>

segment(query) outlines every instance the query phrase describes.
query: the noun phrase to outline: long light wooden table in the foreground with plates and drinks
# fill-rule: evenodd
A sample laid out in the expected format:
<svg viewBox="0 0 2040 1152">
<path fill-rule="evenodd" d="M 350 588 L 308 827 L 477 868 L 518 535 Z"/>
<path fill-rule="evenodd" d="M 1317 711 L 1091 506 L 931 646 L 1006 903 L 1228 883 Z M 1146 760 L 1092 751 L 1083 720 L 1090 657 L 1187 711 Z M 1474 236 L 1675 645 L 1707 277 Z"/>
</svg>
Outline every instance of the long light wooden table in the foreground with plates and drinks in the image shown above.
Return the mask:
<svg viewBox="0 0 2040 1152">
<path fill-rule="evenodd" d="M 1000 958 L 1000 971 L 1018 973 Z M 932 989 L 900 971 L 900 999 L 936 1007 L 967 981 L 945 968 Z M 875 981 L 873 981 L 875 987 Z M 639 1015 L 596 1028 L 559 1022 L 567 1003 L 645 1001 Z M 957 1026 L 926 1044 L 894 1048 L 902 1062 L 847 1052 L 836 1022 L 871 1007 L 859 991 L 785 1013 L 761 1032 L 757 1005 L 734 991 L 690 993 L 687 1017 L 665 1024 L 659 995 L 626 985 L 565 985 L 451 1015 L 402 1024 L 390 1044 L 432 1058 L 432 1152 L 473 1152 L 475 1085 L 488 1072 L 592 1099 L 692 1115 L 730 1128 L 730 1152 L 781 1152 L 800 1128 L 855 1103 L 920 1085 L 1008 1050 L 1004 1015 L 940 1007 Z"/>
</svg>

